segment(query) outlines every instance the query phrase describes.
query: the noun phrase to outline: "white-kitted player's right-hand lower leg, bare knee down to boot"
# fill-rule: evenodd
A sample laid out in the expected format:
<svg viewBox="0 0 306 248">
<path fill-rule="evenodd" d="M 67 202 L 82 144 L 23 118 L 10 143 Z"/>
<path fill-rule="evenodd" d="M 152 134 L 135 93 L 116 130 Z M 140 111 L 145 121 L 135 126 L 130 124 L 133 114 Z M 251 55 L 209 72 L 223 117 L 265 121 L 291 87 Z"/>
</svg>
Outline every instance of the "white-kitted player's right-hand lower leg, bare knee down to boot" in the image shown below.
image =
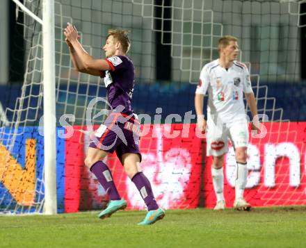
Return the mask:
<svg viewBox="0 0 306 248">
<path fill-rule="evenodd" d="M 237 162 L 236 181 L 235 181 L 235 201 L 234 209 L 236 210 L 250 210 L 251 205 L 243 198 L 243 192 L 248 177 L 247 168 L 247 147 L 237 147 L 235 149 L 235 156 Z"/>
</svg>

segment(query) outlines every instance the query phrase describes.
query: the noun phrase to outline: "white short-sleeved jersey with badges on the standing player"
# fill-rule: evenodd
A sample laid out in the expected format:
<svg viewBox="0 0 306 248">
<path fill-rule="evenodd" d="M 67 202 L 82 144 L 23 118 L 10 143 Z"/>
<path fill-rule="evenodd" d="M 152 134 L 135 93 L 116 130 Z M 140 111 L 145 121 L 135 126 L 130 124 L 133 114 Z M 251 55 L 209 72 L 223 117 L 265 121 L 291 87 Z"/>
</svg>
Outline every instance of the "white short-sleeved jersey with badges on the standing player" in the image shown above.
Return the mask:
<svg viewBox="0 0 306 248">
<path fill-rule="evenodd" d="M 195 94 L 208 91 L 207 115 L 216 115 L 223 123 L 245 114 L 243 92 L 252 92 L 248 68 L 238 61 L 232 67 L 220 67 L 219 60 L 204 65 Z"/>
</svg>

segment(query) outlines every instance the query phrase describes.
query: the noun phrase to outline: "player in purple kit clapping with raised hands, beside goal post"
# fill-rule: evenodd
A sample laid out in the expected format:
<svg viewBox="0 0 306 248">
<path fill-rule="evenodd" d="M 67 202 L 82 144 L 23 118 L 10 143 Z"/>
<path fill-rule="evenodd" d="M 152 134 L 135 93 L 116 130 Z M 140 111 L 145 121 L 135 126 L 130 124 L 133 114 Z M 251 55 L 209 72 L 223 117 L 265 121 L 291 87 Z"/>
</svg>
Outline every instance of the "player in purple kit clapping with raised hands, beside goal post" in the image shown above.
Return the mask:
<svg viewBox="0 0 306 248">
<path fill-rule="evenodd" d="M 108 153 L 116 151 L 124 172 L 136 185 L 147 206 L 147 215 L 139 225 L 153 224 L 165 216 L 165 211 L 154 199 L 150 181 L 141 172 L 139 151 L 139 122 L 131 108 L 134 90 L 134 65 L 126 56 L 130 41 L 127 31 L 110 30 L 103 49 L 106 58 L 92 58 L 78 40 L 77 28 L 68 23 L 64 35 L 70 49 L 74 67 L 79 71 L 94 76 L 104 77 L 108 103 L 113 112 L 104 124 L 95 132 L 95 139 L 90 142 L 85 165 L 97 176 L 99 183 L 106 190 L 110 201 L 106 209 L 99 213 L 99 218 L 111 217 L 117 210 L 127 207 L 127 201 L 121 199 L 113 182 L 111 171 L 102 160 Z M 123 134 L 123 137 L 122 135 Z"/>
</svg>

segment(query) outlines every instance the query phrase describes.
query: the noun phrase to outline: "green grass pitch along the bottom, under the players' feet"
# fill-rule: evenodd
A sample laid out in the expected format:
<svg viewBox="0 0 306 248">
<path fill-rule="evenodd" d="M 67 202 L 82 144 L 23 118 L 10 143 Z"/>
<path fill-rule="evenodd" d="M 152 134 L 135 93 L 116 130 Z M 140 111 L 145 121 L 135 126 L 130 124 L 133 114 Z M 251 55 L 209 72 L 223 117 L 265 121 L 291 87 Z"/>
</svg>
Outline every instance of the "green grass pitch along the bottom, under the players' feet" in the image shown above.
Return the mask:
<svg viewBox="0 0 306 248">
<path fill-rule="evenodd" d="M 137 226 L 144 216 L 1 216 L 0 247 L 306 247 L 306 207 L 167 210 L 156 224 Z"/>
</svg>

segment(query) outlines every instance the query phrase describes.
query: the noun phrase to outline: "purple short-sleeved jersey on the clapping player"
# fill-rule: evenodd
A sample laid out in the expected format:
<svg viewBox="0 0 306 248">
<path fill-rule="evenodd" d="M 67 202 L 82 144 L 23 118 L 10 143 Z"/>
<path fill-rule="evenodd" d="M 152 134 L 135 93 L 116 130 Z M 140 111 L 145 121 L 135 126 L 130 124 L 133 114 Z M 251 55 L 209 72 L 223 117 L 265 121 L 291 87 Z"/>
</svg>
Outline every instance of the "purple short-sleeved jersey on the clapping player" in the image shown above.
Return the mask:
<svg viewBox="0 0 306 248">
<path fill-rule="evenodd" d="M 111 107 L 124 106 L 121 113 L 131 115 L 131 97 L 134 90 L 134 65 L 127 56 L 106 58 L 111 70 L 102 72 L 107 88 L 107 100 Z"/>
</svg>

